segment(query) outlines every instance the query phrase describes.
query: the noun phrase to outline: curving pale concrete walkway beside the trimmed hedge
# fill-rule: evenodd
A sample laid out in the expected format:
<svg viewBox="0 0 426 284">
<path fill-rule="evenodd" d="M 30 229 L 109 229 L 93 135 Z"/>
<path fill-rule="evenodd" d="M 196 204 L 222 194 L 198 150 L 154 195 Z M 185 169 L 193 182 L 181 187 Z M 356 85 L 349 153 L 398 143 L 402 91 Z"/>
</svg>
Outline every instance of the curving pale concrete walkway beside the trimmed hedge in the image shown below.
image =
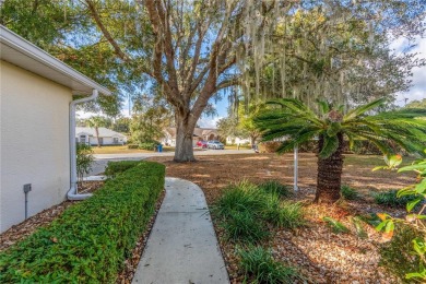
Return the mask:
<svg viewBox="0 0 426 284">
<path fill-rule="evenodd" d="M 229 283 L 204 193 L 166 178 L 166 197 L 132 283 Z"/>
</svg>

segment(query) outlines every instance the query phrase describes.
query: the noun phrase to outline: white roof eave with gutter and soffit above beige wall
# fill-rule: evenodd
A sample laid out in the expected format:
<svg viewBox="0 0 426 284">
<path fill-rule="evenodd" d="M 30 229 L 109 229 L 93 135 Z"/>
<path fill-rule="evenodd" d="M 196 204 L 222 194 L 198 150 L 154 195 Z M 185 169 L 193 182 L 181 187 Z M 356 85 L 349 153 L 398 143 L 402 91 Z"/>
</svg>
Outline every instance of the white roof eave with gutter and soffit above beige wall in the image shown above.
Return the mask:
<svg viewBox="0 0 426 284">
<path fill-rule="evenodd" d="M 99 85 L 2 25 L 0 25 L 0 59 L 68 86 L 74 94 L 92 94 L 93 90 L 97 90 L 104 95 L 111 94 L 108 88 Z"/>
</svg>

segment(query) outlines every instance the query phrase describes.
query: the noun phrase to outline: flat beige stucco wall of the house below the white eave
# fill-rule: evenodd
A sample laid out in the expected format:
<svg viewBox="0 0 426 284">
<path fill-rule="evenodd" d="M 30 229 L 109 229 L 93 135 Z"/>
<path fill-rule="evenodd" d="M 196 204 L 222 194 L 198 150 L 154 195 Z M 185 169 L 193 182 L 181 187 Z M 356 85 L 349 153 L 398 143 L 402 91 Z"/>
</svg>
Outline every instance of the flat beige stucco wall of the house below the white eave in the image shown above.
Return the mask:
<svg viewBox="0 0 426 284">
<path fill-rule="evenodd" d="M 71 90 L 0 60 L 0 233 L 64 200 Z"/>
</svg>

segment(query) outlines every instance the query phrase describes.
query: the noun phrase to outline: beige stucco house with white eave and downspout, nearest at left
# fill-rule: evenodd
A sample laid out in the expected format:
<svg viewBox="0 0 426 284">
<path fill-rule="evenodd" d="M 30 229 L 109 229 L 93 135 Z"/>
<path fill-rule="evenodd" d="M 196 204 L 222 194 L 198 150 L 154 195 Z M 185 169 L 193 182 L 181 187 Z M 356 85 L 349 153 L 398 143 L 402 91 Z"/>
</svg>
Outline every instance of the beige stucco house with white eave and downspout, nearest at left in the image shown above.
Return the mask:
<svg viewBox="0 0 426 284">
<path fill-rule="evenodd" d="M 70 125 L 74 126 L 75 104 L 109 91 L 1 25 L 0 73 L 2 233 L 25 220 L 24 188 L 31 189 L 27 216 L 67 196 L 83 198 L 75 187 Z M 73 94 L 92 96 L 73 100 Z"/>
</svg>

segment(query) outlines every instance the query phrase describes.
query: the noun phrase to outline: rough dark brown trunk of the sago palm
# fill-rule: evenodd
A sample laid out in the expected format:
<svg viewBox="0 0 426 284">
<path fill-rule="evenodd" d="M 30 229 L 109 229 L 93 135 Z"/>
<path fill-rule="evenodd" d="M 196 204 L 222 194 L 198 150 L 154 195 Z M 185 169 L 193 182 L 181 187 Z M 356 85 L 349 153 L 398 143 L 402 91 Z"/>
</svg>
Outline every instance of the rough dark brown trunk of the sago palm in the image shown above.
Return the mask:
<svg viewBox="0 0 426 284">
<path fill-rule="evenodd" d="M 328 158 L 318 157 L 317 192 L 313 202 L 334 203 L 340 199 L 343 170 L 343 133 L 338 133 L 339 147 Z M 319 151 L 323 146 L 323 138 L 319 139 Z"/>
</svg>

